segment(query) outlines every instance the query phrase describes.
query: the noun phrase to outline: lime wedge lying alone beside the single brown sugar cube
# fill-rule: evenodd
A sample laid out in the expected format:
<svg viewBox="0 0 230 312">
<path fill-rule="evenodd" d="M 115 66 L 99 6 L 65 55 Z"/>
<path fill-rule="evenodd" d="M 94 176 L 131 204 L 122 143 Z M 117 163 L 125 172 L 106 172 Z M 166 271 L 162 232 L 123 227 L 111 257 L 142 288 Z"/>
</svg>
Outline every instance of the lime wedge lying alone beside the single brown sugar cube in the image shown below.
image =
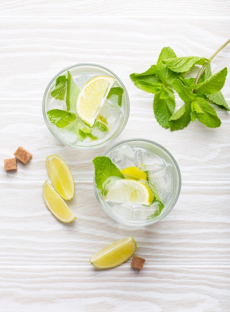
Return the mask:
<svg viewBox="0 0 230 312">
<path fill-rule="evenodd" d="M 136 242 L 132 236 L 122 238 L 96 252 L 90 263 L 99 269 L 115 268 L 127 261 L 136 251 Z"/>
</svg>

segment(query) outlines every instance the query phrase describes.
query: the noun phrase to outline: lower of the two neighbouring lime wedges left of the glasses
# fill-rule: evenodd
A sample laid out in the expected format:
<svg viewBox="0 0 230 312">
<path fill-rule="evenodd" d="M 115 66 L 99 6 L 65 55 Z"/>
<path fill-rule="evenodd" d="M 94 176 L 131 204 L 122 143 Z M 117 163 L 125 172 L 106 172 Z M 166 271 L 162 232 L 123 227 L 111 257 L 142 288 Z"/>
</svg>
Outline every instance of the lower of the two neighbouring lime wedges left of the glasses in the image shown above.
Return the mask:
<svg viewBox="0 0 230 312">
<path fill-rule="evenodd" d="M 43 197 L 46 206 L 58 220 L 70 223 L 76 219 L 66 202 L 48 181 L 43 184 Z"/>
</svg>

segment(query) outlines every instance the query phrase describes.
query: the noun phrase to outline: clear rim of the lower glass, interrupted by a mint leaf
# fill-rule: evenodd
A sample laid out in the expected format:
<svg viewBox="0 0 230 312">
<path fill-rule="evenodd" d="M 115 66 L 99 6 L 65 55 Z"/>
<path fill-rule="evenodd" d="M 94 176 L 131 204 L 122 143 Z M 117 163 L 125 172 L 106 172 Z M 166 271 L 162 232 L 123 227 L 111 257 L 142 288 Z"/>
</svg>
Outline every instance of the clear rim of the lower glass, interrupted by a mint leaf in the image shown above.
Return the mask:
<svg viewBox="0 0 230 312">
<path fill-rule="evenodd" d="M 165 218 L 170 211 L 172 211 L 173 207 L 175 206 L 179 195 L 180 195 L 180 191 L 181 191 L 181 172 L 180 172 L 180 168 L 178 166 L 178 163 L 176 161 L 176 159 L 174 158 L 174 156 L 172 156 L 172 154 L 166 149 L 164 148 L 162 145 L 151 141 L 151 140 L 147 140 L 147 139 L 127 139 L 127 140 L 123 140 L 121 142 L 116 143 L 115 145 L 113 145 L 111 148 L 109 148 L 104 154 L 103 156 L 107 156 L 113 149 L 115 149 L 117 146 L 122 145 L 124 143 L 128 143 L 128 142 L 145 142 L 147 144 L 151 144 L 153 146 L 156 146 L 157 148 L 163 150 L 172 160 L 173 164 L 175 165 L 175 171 L 177 173 L 177 192 L 175 194 L 175 198 L 173 200 L 173 202 L 171 203 L 171 206 L 169 209 L 163 211 L 158 217 L 150 220 L 149 222 L 145 222 L 145 221 L 140 221 L 139 223 L 136 221 L 127 221 L 127 222 L 123 222 L 122 220 L 120 220 L 116 215 L 112 214 L 108 208 L 107 208 L 107 203 L 103 200 L 102 198 L 102 194 L 100 192 L 100 190 L 97 188 L 96 183 L 95 183 L 95 174 L 94 174 L 94 191 L 95 191 L 95 195 L 97 197 L 97 200 L 99 202 L 99 204 L 101 205 L 102 209 L 104 210 L 104 212 L 110 216 L 112 219 L 114 219 L 115 221 L 123 224 L 123 225 L 127 225 L 127 226 L 133 226 L 133 227 L 141 227 L 141 226 L 147 226 L 147 225 L 151 225 L 154 223 L 157 223 L 158 221 L 162 220 L 163 218 Z"/>
</svg>

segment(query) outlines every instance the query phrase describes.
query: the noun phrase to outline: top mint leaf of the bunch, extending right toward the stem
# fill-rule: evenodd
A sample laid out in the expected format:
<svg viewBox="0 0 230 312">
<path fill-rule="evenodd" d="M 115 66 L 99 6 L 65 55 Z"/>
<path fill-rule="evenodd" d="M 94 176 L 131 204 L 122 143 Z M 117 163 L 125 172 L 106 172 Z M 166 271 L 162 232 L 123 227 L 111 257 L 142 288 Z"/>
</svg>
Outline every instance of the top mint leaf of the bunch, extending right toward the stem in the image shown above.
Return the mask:
<svg viewBox="0 0 230 312">
<path fill-rule="evenodd" d="M 164 60 L 166 66 L 177 73 L 189 71 L 194 65 L 204 65 L 209 59 L 198 56 L 185 56 Z"/>
</svg>

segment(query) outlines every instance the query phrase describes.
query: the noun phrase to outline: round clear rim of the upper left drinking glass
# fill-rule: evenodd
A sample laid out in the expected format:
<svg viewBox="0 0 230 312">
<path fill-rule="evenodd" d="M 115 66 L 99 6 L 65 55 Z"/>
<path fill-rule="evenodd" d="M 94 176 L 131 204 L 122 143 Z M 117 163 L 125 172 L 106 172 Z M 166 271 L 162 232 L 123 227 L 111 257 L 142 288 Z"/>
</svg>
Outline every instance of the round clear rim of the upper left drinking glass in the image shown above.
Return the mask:
<svg viewBox="0 0 230 312">
<path fill-rule="evenodd" d="M 108 73 L 110 73 L 110 75 L 114 76 L 116 81 L 118 82 L 118 84 L 123 88 L 124 93 L 124 101 L 123 104 L 125 103 L 125 107 L 124 107 L 124 118 L 122 119 L 121 123 L 120 123 L 120 127 L 115 131 L 115 133 L 112 134 L 112 136 L 108 137 L 106 140 L 102 140 L 99 143 L 97 143 L 97 141 L 92 142 L 92 144 L 88 144 L 88 145 L 84 145 L 84 144 L 71 144 L 68 142 L 65 142 L 64 140 L 62 140 L 56 133 L 55 131 L 50 127 L 50 121 L 47 117 L 46 114 L 46 110 L 45 110 L 45 103 L 46 103 L 46 97 L 48 92 L 50 91 L 51 86 L 53 85 L 53 83 L 55 82 L 55 80 L 57 79 L 58 76 L 60 76 L 61 74 L 63 74 L 64 72 L 71 70 L 72 68 L 76 68 L 76 67 L 96 67 L 99 68 L 103 71 L 107 71 Z M 95 63 L 78 63 L 78 64 L 74 64 L 71 66 L 68 66 L 64 69 L 62 69 L 61 71 L 59 71 L 48 83 L 44 95 L 43 95 L 43 99 L 42 99 L 42 113 L 43 113 L 43 118 L 45 121 L 45 124 L 47 126 L 47 128 L 49 129 L 49 131 L 51 132 L 51 134 L 57 139 L 59 140 L 61 143 L 63 143 L 64 145 L 70 146 L 72 148 L 75 149 L 80 149 L 80 150 L 91 150 L 91 149 L 97 149 L 97 148 L 101 148 L 105 145 L 107 145 L 109 142 L 113 141 L 116 137 L 118 137 L 120 135 L 120 133 L 123 131 L 124 127 L 127 124 L 128 121 L 128 117 L 129 117 L 129 97 L 128 97 L 128 92 L 126 87 L 124 86 L 123 82 L 120 80 L 120 78 L 109 68 L 103 66 L 103 65 L 99 65 L 99 64 L 95 64 Z"/>
</svg>

